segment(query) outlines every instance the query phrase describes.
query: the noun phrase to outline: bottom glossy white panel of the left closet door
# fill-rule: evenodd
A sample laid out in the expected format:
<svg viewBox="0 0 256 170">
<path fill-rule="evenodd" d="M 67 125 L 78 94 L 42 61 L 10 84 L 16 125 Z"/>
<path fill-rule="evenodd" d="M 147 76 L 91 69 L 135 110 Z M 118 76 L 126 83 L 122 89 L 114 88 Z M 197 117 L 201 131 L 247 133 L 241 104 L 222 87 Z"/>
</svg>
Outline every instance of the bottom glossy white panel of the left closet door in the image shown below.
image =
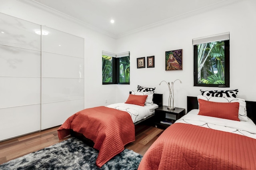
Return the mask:
<svg viewBox="0 0 256 170">
<path fill-rule="evenodd" d="M 41 129 L 41 105 L 0 109 L 0 141 Z"/>
</svg>

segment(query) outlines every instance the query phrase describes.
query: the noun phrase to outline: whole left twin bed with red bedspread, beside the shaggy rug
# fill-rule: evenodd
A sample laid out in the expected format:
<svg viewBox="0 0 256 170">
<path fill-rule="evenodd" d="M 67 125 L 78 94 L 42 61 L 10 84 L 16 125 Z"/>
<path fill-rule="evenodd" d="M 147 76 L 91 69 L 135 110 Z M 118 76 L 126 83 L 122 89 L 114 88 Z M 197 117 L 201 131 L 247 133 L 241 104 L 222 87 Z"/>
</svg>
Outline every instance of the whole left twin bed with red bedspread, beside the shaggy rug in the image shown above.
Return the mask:
<svg viewBox="0 0 256 170">
<path fill-rule="evenodd" d="M 154 109 L 162 105 L 162 94 L 143 91 L 130 93 L 126 103 L 75 113 L 58 129 L 58 137 L 62 139 L 71 134 L 99 150 L 96 165 L 101 167 L 122 152 L 126 144 L 135 140 L 134 125 L 152 119 Z"/>
</svg>

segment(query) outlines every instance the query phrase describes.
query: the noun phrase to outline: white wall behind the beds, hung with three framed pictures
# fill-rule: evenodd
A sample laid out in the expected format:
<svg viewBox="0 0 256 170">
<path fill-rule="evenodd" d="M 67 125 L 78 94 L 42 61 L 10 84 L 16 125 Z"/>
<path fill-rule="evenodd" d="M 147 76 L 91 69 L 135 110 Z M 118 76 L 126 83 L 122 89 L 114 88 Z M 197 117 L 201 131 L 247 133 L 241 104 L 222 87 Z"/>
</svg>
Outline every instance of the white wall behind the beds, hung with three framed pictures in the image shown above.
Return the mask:
<svg viewBox="0 0 256 170">
<path fill-rule="evenodd" d="M 244 0 L 221 9 L 177 20 L 170 24 L 138 32 L 117 40 L 119 51 L 130 51 L 130 86 L 118 86 L 117 101 L 125 101 L 128 91 L 137 85 L 156 87 L 168 105 L 168 87 L 160 81 L 176 81 L 175 107 L 186 108 L 186 96 L 200 94 L 200 89 L 239 89 L 238 97 L 256 101 L 256 1 Z M 194 87 L 192 39 L 230 32 L 230 88 Z M 165 51 L 183 49 L 183 70 L 165 71 Z M 136 58 L 155 56 L 154 68 L 137 69 Z"/>
</svg>

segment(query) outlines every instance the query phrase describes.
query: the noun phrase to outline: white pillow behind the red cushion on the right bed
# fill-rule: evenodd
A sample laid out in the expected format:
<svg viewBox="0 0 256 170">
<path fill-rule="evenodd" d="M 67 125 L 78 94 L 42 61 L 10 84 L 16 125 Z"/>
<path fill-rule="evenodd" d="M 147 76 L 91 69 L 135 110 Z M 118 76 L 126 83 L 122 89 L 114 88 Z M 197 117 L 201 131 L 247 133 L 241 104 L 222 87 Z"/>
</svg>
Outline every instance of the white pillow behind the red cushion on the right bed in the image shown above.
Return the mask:
<svg viewBox="0 0 256 170">
<path fill-rule="evenodd" d="M 203 99 L 206 101 L 213 101 L 213 102 L 220 102 L 220 103 L 238 102 L 239 103 L 238 119 L 240 121 L 248 121 L 248 117 L 246 113 L 246 102 L 244 99 L 239 99 L 235 97 L 210 97 L 210 96 L 197 95 L 197 100 L 198 99 Z"/>
</svg>

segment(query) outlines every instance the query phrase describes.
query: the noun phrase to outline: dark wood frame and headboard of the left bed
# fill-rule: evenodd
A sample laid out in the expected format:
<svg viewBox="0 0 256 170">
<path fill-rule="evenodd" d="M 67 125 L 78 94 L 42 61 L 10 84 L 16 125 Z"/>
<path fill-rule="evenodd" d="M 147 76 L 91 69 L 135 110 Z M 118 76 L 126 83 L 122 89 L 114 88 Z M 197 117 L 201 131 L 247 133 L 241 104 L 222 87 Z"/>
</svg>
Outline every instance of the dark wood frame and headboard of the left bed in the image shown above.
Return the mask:
<svg viewBox="0 0 256 170">
<path fill-rule="evenodd" d="M 132 92 L 130 92 L 131 94 Z M 154 93 L 153 94 L 153 102 L 156 103 L 158 106 L 162 106 L 163 105 L 163 94 L 158 94 L 158 93 Z M 145 119 L 142 119 L 136 123 L 134 123 L 134 125 L 138 125 L 140 123 L 150 123 L 153 119 L 154 119 L 154 115 L 152 114 L 149 117 L 146 117 Z M 83 142 L 85 142 L 88 146 L 93 147 L 94 146 L 94 142 L 88 138 L 86 138 L 82 133 L 78 133 L 78 132 L 74 132 L 72 129 L 70 129 L 70 135 L 78 138 L 79 140 L 82 140 Z"/>
</svg>

